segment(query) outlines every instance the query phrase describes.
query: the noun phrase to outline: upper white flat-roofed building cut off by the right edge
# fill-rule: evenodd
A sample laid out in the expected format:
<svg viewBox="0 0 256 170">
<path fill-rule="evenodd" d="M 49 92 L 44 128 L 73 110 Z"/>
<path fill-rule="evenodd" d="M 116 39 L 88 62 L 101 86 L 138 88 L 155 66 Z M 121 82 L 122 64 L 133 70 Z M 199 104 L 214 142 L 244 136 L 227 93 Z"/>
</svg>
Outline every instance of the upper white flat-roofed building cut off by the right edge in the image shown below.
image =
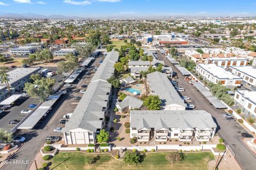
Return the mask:
<svg viewBox="0 0 256 170">
<path fill-rule="evenodd" d="M 229 69 L 233 74 L 243 78 L 243 81 L 250 86 L 256 87 L 256 69 L 252 66 L 230 66 Z"/>
</svg>

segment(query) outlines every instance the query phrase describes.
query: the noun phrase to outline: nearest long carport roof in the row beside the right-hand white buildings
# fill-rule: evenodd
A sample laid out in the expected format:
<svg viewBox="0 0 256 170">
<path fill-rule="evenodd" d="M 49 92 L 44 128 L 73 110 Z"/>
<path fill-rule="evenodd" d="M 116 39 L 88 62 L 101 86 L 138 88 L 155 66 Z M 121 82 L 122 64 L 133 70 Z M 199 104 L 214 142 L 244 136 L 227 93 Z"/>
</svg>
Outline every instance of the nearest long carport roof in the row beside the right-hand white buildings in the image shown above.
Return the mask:
<svg viewBox="0 0 256 170">
<path fill-rule="evenodd" d="M 208 90 L 201 82 L 193 82 L 193 84 L 197 88 L 197 90 L 199 90 L 215 108 L 227 108 L 227 106 L 224 105 L 217 97 L 212 96 L 211 91 Z"/>
</svg>

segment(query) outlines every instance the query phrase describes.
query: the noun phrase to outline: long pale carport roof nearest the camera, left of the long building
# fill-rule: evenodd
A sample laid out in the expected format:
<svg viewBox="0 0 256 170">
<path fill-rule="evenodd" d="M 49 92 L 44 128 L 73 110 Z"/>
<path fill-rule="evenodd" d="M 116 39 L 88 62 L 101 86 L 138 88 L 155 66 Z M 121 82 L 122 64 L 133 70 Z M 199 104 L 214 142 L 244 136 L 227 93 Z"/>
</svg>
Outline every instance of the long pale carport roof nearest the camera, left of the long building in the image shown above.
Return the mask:
<svg viewBox="0 0 256 170">
<path fill-rule="evenodd" d="M 37 122 L 51 109 L 55 102 L 60 98 L 63 92 L 58 92 L 54 95 L 49 96 L 44 103 L 39 106 L 35 112 L 18 127 L 18 129 L 33 129 Z"/>
</svg>

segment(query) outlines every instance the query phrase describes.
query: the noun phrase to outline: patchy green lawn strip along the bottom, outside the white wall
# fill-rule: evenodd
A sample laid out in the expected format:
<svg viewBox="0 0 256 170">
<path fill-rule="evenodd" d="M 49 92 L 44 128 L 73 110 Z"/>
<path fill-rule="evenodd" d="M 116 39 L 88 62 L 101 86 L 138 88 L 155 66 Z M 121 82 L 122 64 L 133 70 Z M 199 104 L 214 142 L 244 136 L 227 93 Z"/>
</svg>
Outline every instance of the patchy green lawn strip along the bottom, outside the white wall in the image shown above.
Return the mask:
<svg viewBox="0 0 256 170">
<path fill-rule="evenodd" d="M 82 152 L 59 153 L 49 162 L 51 169 L 207 169 L 207 163 L 214 158 L 209 152 L 188 153 L 185 160 L 171 165 L 165 159 L 167 153 L 147 154 L 139 165 L 126 165 L 122 160 L 115 160 L 110 155 L 89 155 Z"/>
</svg>

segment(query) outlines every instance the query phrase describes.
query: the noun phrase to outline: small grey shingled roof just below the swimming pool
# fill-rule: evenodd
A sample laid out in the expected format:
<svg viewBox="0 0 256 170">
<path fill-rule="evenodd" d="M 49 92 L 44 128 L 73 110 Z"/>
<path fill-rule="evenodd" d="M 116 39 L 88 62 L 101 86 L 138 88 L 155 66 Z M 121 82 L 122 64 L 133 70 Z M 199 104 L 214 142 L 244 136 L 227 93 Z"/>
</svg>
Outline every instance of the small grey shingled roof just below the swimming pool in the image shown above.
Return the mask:
<svg viewBox="0 0 256 170">
<path fill-rule="evenodd" d="M 119 105 L 122 109 L 127 106 L 140 108 L 143 105 L 143 101 L 132 96 L 126 96 L 123 101 L 117 102 L 116 105 Z"/>
</svg>

